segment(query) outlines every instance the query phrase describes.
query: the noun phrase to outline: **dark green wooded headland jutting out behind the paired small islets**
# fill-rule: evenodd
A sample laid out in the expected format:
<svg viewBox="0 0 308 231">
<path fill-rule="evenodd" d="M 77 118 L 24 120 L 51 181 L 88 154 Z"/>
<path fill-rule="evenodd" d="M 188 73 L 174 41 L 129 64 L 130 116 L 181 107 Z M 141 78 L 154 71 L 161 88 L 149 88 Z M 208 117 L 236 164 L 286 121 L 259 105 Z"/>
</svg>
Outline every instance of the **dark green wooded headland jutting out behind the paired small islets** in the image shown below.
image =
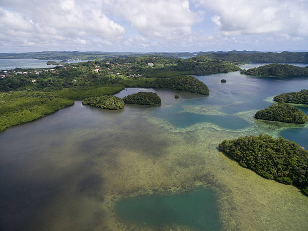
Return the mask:
<svg viewBox="0 0 308 231">
<path fill-rule="evenodd" d="M 157 79 L 153 82 L 155 88 L 171 88 L 184 92 L 199 93 L 209 95 L 207 86 L 194 76 L 183 75 L 169 79 Z"/>
</svg>

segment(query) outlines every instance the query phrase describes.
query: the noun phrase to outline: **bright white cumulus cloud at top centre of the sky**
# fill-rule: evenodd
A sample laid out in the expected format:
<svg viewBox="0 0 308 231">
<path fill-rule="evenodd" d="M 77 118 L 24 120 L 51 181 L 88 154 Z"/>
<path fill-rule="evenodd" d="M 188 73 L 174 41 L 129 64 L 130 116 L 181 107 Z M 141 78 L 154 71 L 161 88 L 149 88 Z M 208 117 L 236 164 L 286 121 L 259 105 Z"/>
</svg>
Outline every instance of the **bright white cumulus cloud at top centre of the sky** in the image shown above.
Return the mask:
<svg viewBox="0 0 308 231">
<path fill-rule="evenodd" d="M 192 25 L 200 20 L 200 13 L 192 12 L 187 0 L 118 0 L 106 3 L 148 38 L 170 40 L 189 35 Z"/>
</svg>

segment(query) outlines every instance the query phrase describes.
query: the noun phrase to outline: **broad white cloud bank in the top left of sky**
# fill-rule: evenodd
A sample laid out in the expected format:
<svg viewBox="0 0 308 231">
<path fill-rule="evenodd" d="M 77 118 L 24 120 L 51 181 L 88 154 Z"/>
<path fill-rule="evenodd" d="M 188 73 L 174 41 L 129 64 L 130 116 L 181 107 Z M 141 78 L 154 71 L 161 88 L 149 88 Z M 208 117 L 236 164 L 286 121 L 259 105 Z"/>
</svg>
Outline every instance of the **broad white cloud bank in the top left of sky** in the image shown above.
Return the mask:
<svg viewBox="0 0 308 231">
<path fill-rule="evenodd" d="M 124 27 L 98 10 L 95 2 L 74 0 L 4 1 L 0 4 L 0 30 L 4 32 L 2 44 L 11 41 L 16 46 L 86 45 L 94 37 L 115 42 L 125 34 Z"/>
</svg>

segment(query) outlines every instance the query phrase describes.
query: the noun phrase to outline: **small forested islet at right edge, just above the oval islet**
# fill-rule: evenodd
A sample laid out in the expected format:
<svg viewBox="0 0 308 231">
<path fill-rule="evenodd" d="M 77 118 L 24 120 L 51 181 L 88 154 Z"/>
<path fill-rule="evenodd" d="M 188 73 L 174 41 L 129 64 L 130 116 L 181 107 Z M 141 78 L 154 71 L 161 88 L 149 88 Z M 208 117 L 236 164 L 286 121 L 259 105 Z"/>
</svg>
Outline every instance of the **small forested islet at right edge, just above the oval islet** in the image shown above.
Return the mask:
<svg viewBox="0 0 308 231">
<path fill-rule="evenodd" d="M 274 101 L 279 103 L 292 104 L 308 104 L 308 90 L 301 90 L 300 92 L 282 93 L 274 97 Z"/>
</svg>

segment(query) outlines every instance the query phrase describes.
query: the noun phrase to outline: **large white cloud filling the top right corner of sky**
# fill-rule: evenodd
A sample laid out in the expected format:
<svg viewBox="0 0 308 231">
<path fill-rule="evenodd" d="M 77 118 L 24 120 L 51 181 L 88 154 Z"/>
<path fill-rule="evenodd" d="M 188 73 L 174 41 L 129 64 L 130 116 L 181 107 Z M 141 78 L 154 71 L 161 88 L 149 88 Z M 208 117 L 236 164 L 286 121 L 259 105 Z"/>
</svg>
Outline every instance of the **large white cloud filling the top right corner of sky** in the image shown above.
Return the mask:
<svg viewBox="0 0 308 231">
<path fill-rule="evenodd" d="M 308 36 L 306 0 L 200 0 L 213 11 L 212 22 L 224 35 L 269 34 L 285 38 Z"/>
</svg>

